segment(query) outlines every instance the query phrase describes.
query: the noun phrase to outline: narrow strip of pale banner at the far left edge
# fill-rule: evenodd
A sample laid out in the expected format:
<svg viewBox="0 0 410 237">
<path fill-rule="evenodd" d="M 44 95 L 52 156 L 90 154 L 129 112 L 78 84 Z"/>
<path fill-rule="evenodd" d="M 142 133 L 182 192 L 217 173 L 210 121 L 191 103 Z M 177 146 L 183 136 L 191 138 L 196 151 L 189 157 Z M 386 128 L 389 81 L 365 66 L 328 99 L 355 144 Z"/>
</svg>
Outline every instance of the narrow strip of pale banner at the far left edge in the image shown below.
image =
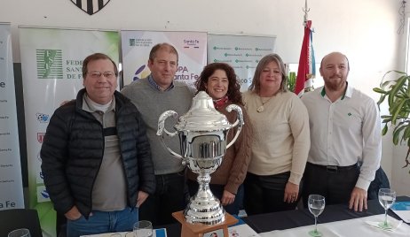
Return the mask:
<svg viewBox="0 0 410 237">
<path fill-rule="evenodd" d="M 0 23 L 0 210 L 24 208 L 17 126 L 12 34 Z"/>
</svg>

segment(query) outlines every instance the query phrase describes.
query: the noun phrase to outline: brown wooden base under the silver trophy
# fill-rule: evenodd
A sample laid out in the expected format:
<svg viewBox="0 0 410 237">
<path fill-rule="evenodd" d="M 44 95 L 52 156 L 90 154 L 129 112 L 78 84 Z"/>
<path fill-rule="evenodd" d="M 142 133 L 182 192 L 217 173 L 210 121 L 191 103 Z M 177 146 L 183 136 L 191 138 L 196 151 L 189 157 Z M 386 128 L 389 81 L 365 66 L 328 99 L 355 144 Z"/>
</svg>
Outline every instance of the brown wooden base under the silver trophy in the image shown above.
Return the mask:
<svg viewBox="0 0 410 237">
<path fill-rule="evenodd" d="M 181 223 L 182 225 L 181 237 L 208 237 L 204 236 L 204 233 L 209 233 L 211 231 L 217 231 L 220 229 L 223 230 L 224 237 L 229 237 L 228 226 L 231 226 L 238 222 L 238 219 L 233 218 L 233 216 L 229 213 L 225 214 L 225 221 L 217 225 L 188 223 L 185 221 L 184 213 L 182 210 L 172 213 L 172 216 L 176 218 L 177 221 L 179 221 L 179 223 Z"/>
</svg>

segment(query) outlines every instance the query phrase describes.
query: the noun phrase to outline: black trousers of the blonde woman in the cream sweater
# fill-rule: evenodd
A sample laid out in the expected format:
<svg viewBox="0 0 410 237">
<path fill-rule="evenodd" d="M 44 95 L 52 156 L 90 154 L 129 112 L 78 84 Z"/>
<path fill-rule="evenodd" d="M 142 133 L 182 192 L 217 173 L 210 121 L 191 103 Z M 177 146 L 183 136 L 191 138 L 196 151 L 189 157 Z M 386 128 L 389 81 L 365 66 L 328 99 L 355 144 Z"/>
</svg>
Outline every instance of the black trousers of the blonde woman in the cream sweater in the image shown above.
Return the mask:
<svg viewBox="0 0 410 237">
<path fill-rule="evenodd" d="M 248 172 L 244 181 L 244 208 L 247 214 L 255 215 L 281 210 L 295 210 L 297 202 L 283 202 L 289 176 L 290 172 L 264 176 Z"/>
</svg>

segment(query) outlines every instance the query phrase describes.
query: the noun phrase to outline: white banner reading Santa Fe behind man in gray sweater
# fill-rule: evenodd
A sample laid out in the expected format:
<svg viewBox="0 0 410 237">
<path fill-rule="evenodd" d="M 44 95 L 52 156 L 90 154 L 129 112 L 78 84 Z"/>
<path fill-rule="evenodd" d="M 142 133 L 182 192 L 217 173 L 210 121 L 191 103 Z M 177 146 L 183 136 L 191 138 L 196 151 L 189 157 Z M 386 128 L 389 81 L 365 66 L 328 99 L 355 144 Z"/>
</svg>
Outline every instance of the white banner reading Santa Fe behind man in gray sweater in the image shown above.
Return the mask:
<svg viewBox="0 0 410 237">
<path fill-rule="evenodd" d="M 168 42 L 178 52 L 175 80 L 193 87 L 207 64 L 207 34 L 202 32 L 122 31 L 123 85 L 145 78 L 151 72 L 147 67 L 149 52 L 155 44 Z"/>
</svg>

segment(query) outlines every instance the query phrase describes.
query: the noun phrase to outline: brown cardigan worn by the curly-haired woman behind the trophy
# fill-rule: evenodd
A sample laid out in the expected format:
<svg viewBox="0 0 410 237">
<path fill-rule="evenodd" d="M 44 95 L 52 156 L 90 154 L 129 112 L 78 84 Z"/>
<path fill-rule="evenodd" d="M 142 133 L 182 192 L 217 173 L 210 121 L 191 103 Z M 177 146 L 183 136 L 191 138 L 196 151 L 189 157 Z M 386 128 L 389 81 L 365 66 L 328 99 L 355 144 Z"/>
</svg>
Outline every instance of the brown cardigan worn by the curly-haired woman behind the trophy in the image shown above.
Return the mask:
<svg viewBox="0 0 410 237">
<path fill-rule="evenodd" d="M 225 103 L 225 105 L 223 105 L 217 111 L 225 114 L 230 123 L 234 123 L 236 120 L 236 112 L 225 111 L 226 106 L 228 106 L 229 104 L 232 103 Z M 238 139 L 229 149 L 226 149 L 226 154 L 222 160 L 221 166 L 217 168 L 217 171 L 211 173 L 210 175 L 211 184 L 225 185 L 225 190 L 234 195 L 236 195 L 240 184 L 242 184 L 243 180 L 245 180 L 248 171 L 248 164 L 250 162 L 250 146 L 252 144 L 252 126 L 250 125 L 248 113 L 247 111 L 245 111 L 245 108 L 243 106 L 239 106 L 240 109 L 242 109 L 245 125 L 242 126 L 242 130 L 240 131 Z M 236 134 L 236 128 L 237 126 L 235 126 L 232 131 L 229 131 L 226 143 L 229 143 L 233 140 L 233 136 Z M 189 180 L 196 181 L 197 174 L 188 170 L 187 177 Z"/>
</svg>

